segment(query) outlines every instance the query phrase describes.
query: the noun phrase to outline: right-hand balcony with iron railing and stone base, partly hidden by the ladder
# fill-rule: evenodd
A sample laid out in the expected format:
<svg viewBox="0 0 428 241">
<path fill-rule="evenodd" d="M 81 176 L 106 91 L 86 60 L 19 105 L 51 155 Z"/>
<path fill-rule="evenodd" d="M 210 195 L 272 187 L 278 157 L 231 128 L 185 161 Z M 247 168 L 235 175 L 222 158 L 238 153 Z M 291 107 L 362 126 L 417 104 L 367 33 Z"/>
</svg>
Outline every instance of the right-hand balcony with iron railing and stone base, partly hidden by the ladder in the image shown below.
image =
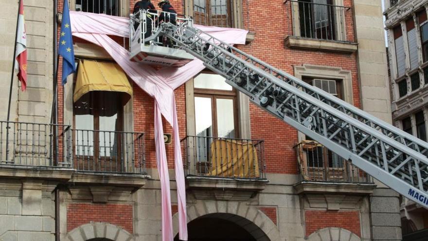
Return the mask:
<svg viewBox="0 0 428 241">
<path fill-rule="evenodd" d="M 302 181 L 294 188 L 298 194 L 305 193 L 309 202 L 317 203 L 319 195 L 324 195 L 322 199 L 333 205 L 341 199 L 329 200 L 329 194 L 342 193 L 347 195 L 341 198 L 359 200 L 360 195 L 373 193 L 376 185 L 371 176 L 321 144 L 305 140 L 295 148 Z"/>
</svg>

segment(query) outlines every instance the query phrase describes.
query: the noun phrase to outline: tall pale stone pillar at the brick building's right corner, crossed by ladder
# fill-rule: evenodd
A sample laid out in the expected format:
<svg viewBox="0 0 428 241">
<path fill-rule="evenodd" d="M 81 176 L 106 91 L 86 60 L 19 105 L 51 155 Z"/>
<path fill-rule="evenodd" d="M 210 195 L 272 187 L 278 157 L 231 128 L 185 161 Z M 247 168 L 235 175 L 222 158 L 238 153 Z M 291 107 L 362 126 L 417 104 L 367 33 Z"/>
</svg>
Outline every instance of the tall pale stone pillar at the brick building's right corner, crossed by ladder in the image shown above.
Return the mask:
<svg viewBox="0 0 428 241">
<path fill-rule="evenodd" d="M 392 123 L 381 0 L 354 0 L 362 109 Z M 375 180 L 370 198 L 372 241 L 401 240 L 398 194 Z"/>
</svg>

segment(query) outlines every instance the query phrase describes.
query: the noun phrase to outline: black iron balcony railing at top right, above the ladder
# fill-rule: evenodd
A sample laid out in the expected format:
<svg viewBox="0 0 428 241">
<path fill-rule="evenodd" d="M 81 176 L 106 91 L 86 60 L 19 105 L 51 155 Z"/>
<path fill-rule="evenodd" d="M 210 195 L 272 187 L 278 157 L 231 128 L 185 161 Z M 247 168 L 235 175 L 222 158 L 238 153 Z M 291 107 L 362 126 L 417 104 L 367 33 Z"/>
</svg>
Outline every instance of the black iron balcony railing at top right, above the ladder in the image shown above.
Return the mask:
<svg viewBox="0 0 428 241">
<path fill-rule="evenodd" d="M 329 1 L 325 1 L 326 3 Z M 287 15 L 292 22 L 291 35 L 306 38 L 352 42 L 353 29 L 350 7 L 315 3 L 308 0 L 285 0 Z M 348 32 L 348 33 L 347 33 Z"/>
</svg>

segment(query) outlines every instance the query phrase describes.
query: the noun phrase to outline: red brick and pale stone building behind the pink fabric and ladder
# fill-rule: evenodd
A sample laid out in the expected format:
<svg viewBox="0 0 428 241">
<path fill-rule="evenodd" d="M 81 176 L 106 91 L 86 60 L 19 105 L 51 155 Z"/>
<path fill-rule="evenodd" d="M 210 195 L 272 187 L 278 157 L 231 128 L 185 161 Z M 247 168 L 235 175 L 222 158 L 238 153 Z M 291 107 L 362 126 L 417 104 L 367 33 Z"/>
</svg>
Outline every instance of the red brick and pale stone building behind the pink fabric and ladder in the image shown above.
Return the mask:
<svg viewBox="0 0 428 241">
<path fill-rule="evenodd" d="M 0 76 L 7 79 L 18 1 L 0 3 L 0 46 L 6 53 Z M 71 10 L 122 17 L 134 4 L 70 0 Z M 247 44 L 239 49 L 391 123 L 380 0 L 172 4 L 198 24 L 248 29 Z M 55 230 L 61 241 L 160 240 L 153 99 L 103 49 L 75 37 L 78 71 L 64 88 L 59 84 L 60 124 L 48 124 L 57 18 L 51 0 L 24 5 L 28 91 L 14 88 L 15 122 L 9 131 L 7 123 L 0 126 L 0 240 L 52 240 Z M 126 91 L 80 94 L 83 68 L 90 70 L 86 80 L 120 81 Z M 259 109 L 221 76 L 203 71 L 175 94 L 191 240 L 401 240 L 395 192 Z M 213 151 L 215 143 L 223 148 Z M 239 178 L 213 171 L 216 162 L 231 162 L 228 143 L 256 153 Z M 172 168 L 173 147 L 166 149 Z M 176 223 L 175 182 L 171 186 Z"/>
</svg>

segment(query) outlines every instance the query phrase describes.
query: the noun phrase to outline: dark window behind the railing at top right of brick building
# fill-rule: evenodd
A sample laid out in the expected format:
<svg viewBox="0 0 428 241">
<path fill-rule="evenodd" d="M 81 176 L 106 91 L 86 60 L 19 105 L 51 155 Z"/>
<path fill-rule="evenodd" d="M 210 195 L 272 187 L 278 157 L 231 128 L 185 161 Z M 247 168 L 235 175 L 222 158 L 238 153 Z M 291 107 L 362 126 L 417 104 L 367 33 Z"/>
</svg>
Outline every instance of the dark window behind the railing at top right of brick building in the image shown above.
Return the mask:
<svg viewBox="0 0 428 241">
<path fill-rule="evenodd" d="M 301 37 L 336 40 L 332 0 L 299 0 Z"/>
</svg>

